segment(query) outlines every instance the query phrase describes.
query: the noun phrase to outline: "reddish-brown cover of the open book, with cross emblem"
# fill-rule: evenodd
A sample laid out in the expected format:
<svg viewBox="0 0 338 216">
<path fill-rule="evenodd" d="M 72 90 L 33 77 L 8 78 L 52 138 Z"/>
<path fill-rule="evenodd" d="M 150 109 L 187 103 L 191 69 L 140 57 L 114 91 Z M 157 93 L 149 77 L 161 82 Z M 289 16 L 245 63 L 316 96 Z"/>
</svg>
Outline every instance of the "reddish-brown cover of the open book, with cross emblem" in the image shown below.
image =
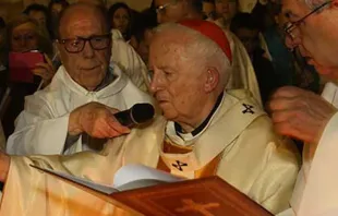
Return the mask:
<svg viewBox="0 0 338 216">
<path fill-rule="evenodd" d="M 146 216 L 273 215 L 219 177 L 166 183 L 110 196 Z"/>
</svg>

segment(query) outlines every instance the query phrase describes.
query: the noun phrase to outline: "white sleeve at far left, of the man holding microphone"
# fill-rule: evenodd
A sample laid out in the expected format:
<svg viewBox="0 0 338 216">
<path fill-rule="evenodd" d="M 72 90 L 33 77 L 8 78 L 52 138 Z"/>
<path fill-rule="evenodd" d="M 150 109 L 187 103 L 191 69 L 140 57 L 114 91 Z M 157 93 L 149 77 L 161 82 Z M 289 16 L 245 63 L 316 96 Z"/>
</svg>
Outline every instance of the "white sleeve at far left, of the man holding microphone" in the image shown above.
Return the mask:
<svg viewBox="0 0 338 216">
<path fill-rule="evenodd" d="M 11 155 L 62 154 L 68 134 L 69 115 L 55 118 L 48 103 L 31 96 L 17 117 L 14 133 L 8 139 Z"/>
</svg>

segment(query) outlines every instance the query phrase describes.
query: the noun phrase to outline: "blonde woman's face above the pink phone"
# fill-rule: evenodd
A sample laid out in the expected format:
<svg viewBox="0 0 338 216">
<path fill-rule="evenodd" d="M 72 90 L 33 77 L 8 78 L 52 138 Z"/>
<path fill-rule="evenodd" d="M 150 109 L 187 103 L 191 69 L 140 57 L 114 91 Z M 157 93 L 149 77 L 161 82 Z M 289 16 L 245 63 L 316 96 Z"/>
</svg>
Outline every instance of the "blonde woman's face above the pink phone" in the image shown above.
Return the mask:
<svg viewBox="0 0 338 216">
<path fill-rule="evenodd" d="M 11 51 L 28 51 L 38 49 L 38 35 L 33 23 L 24 23 L 13 28 Z"/>
</svg>

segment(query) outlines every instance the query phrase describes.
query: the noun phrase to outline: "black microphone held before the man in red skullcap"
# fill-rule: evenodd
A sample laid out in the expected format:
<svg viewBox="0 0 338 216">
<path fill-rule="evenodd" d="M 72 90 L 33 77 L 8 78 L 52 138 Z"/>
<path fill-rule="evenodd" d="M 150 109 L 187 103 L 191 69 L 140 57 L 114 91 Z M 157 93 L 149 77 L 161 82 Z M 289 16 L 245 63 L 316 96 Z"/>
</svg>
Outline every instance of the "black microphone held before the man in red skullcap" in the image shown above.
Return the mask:
<svg viewBox="0 0 338 216">
<path fill-rule="evenodd" d="M 154 118 L 155 109 L 150 104 L 135 104 L 132 108 L 114 113 L 114 118 L 124 127 L 132 128 Z"/>
</svg>

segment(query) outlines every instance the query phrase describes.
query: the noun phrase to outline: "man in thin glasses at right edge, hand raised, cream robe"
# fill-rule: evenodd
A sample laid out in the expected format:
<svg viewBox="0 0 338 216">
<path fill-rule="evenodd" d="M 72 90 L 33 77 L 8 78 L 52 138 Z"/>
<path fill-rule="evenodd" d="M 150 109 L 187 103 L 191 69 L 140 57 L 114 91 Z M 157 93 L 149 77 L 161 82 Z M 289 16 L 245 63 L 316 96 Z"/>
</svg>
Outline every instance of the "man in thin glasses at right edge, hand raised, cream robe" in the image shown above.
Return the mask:
<svg viewBox="0 0 338 216">
<path fill-rule="evenodd" d="M 338 215 L 338 1 L 282 0 L 286 44 L 331 82 L 322 97 L 282 87 L 269 104 L 275 129 L 302 140 L 303 168 L 291 199 L 290 215 Z M 286 214 L 287 215 L 287 214 Z"/>
</svg>

